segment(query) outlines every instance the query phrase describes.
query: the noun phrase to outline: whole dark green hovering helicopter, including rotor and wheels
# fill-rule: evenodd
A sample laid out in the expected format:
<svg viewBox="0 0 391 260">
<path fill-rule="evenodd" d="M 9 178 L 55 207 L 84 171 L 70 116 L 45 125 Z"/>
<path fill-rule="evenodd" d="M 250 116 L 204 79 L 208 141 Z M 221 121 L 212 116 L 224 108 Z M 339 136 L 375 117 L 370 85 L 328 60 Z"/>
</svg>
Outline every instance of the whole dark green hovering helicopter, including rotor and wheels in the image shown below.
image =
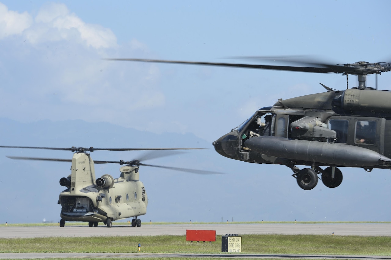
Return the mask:
<svg viewBox="0 0 391 260">
<path fill-rule="evenodd" d="M 292 169 L 298 185 L 313 189 L 317 174 L 329 188 L 342 182 L 337 167 L 391 169 L 391 91 L 366 86 L 366 76 L 391 70 L 390 62 L 326 64 L 278 57 L 241 57 L 295 62 L 276 66 L 220 62 L 106 59 L 236 68 L 272 69 L 312 73 L 343 73 L 346 90 L 325 87 L 326 92 L 278 100 L 255 112 L 242 125 L 213 142 L 222 156 L 258 164 L 282 164 Z M 348 89 L 348 75 L 359 85 Z M 377 79 L 377 78 L 376 78 Z M 377 82 L 377 80 L 376 80 Z M 299 169 L 296 165 L 310 166 Z M 326 167 L 322 169 L 321 167 Z"/>
</svg>

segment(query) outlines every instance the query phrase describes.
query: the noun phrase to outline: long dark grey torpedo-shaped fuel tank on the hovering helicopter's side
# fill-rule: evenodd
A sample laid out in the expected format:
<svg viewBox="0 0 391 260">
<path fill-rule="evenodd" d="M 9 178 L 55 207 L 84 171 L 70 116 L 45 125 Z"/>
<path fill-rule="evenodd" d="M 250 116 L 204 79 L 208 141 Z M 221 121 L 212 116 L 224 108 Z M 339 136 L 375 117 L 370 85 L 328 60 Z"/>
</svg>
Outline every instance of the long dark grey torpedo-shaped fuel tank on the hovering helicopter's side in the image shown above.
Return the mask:
<svg viewBox="0 0 391 260">
<path fill-rule="evenodd" d="M 391 162 L 380 153 L 346 144 L 260 136 L 249 138 L 245 145 L 264 155 L 339 166 L 368 167 Z"/>
</svg>

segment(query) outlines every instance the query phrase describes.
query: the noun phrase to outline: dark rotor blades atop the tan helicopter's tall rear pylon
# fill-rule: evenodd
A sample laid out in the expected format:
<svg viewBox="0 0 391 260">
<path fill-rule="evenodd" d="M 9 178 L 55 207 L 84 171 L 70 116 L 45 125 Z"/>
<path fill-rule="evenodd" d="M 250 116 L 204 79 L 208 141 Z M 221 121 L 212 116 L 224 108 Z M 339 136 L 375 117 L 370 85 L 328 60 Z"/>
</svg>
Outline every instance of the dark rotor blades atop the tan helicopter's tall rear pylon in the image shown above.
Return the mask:
<svg viewBox="0 0 391 260">
<path fill-rule="evenodd" d="M 27 149 L 46 149 L 46 150 L 64 150 L 83 153 L 85 151 L 150 151 L 150 150 L 204 150 L 208 148 L 84 148 L 75 147 L 71 148 L 55 148 L 55 147 L 35 147 L 35 146 L 0 146 L 0 148 L 27 148 Z"/>
</svg>

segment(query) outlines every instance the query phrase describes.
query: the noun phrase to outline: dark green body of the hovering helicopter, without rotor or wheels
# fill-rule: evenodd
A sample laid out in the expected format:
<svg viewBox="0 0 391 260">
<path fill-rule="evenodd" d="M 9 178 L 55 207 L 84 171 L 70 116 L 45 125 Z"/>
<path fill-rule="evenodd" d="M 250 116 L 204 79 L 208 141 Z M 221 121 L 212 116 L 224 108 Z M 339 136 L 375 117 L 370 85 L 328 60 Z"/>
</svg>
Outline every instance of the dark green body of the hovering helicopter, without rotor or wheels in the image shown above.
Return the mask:
<svg viewBox="0 0 391 260">
<path fill-rule="evenodd" d="M 327 91 L 257 110 L 213 142 L 228 158 L 258 164 L 391 169 L 391 92 Z M 331 168 L 335 170 L 335 168 Z M 342 177 L 341 177 L 342 178 Z"/>
</svg>

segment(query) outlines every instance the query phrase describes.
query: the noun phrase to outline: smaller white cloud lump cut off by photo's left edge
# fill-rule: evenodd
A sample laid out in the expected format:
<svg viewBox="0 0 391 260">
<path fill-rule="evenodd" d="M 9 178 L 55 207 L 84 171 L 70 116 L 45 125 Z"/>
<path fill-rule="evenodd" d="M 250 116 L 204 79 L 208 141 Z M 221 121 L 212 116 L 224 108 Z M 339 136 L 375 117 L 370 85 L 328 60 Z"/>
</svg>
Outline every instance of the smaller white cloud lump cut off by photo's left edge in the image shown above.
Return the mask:
<svg viewBox="0 0 391 260">
<path fill-rule="evenodd" d="M 7 6 L 0 3 L 0 39 L 22 32 L 32 24 L 32 17 L 27 12 L 22 14 L 9 11 Z"/>
</svg>

